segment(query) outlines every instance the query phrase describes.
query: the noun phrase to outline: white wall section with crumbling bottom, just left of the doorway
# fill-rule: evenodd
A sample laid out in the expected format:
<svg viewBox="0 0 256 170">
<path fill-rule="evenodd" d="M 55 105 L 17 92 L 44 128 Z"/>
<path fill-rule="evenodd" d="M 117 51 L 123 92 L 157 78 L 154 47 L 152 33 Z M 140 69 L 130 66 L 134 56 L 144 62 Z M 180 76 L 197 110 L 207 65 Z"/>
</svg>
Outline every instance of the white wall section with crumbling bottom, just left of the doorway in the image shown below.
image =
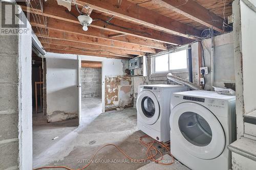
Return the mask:
<svg viewBox="0 0 256 170">
<path fill-rule="evenodd" d="M 53 112 L 78 114 L 77 56 L 47 53 L 47 115 L 50 122 L 66 119 L 53 117 Z M 51 119 L 51 117 L 53 117 Z"/>
</svg>

